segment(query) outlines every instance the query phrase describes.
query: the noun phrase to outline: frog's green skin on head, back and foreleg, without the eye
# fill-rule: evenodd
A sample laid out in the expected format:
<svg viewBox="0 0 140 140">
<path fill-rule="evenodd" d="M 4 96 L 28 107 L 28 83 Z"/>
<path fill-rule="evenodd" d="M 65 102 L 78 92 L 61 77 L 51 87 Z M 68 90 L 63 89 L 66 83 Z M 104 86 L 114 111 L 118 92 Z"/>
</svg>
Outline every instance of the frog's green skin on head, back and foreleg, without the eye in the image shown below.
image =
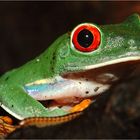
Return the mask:
<svg viewBox="0 0 140 140">
<path fill-rule="evenodd" d="M 66 33 L 34 60 L 1 76 L 1 106 L 5 106 L 13 116 L 20 116 L 19 119 L 61 116 L 66 112 L 61 109 L 49 111 L 25 93 L 23 86 L 37 80 L 82 71 L 85 66 L 92 65 L 98 68 L 98 64 L 111 61 L 115 64 L 117 60 L 123 58 L 126 58 L 124 61 L 140 60 L 139 15 L 134 14 L 121 24 L 97 27 L 101 32 L 101 43 L 92 53 L 82 53 L 72 49 L 70 34 Z"/>
</svg>

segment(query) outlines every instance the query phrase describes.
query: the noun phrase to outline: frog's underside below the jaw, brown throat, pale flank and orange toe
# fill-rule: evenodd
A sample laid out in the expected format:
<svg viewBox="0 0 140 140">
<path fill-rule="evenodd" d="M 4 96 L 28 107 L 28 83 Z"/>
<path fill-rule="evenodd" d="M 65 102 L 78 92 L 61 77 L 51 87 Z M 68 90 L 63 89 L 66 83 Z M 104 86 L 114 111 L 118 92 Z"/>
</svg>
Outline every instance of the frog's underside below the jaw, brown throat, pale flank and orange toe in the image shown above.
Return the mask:
<svg viewBox="0 0 140 140">
<path fill-rule="evenodd" d="M 38 80 L 27 84 L 25 90 L 47 109 L 62 109 L 67 113 L 82 111 L 112 83 L 126 78 L 139 61 L 125 61 L 84 71 L 66 72 L 53 79 Z"/>
</svg>

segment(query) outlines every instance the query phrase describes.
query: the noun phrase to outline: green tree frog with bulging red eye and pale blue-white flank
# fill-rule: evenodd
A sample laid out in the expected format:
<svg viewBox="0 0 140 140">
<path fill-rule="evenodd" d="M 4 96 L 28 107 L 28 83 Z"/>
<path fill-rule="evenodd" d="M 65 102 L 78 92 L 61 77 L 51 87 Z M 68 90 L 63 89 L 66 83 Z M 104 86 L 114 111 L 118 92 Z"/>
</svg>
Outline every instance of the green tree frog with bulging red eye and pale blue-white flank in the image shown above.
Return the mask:
<svg viewBox="0 0 140 140">
<path fill-rule="evenodd" d="M 19 120 L 82 112 L 140 64 L 140 17 L 85 22 L 0 77 L 0 105 Z"/>
</svg>

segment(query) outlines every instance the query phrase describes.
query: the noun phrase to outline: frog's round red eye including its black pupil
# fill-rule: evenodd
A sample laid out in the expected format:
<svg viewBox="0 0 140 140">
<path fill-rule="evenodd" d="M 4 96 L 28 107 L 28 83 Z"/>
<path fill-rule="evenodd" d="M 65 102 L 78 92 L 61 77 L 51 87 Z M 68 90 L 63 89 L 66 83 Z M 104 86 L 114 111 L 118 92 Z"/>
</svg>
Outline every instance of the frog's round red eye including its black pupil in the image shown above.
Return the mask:
<svg viewBox="0 0 140 140">
<path fill-rule="evenodd" d="M 82 24 L 74 30 L 72 43 L 79 51 L 91 52 L 99 47 L 100 32 L 92 24 Z"/>
</svg>

